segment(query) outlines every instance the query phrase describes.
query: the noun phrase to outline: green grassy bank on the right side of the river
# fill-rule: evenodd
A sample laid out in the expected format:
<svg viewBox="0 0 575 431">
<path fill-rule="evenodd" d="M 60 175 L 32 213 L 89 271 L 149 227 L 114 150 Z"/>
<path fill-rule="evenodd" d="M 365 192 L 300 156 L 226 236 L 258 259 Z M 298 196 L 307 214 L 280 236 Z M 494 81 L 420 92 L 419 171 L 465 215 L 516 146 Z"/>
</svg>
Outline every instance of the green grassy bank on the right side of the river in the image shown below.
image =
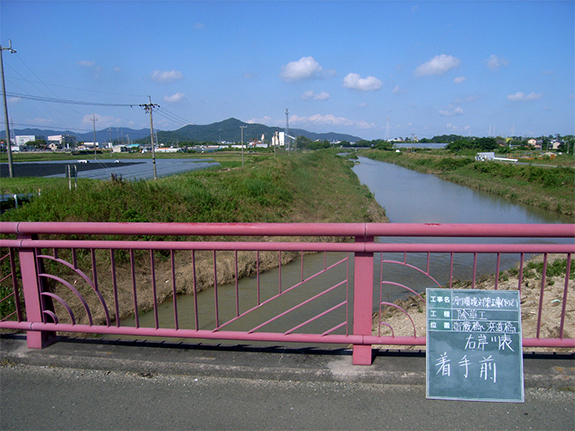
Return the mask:
<svg viewBox="0 0 575 431">
<path fill-rule="evenodd" d="M 361 155 L 434 174 L 453 183 L 575 219 L 575 169 L 572 164 L 561 166 L 562 163 L 557 163 L 559 166 L 555 167 L 476 162 L 471 156 L 454 155 L 445 150 L 411 153 L 368 150 Z M 553 162 L 546 162 L 549 163 Z"/>
</svg>

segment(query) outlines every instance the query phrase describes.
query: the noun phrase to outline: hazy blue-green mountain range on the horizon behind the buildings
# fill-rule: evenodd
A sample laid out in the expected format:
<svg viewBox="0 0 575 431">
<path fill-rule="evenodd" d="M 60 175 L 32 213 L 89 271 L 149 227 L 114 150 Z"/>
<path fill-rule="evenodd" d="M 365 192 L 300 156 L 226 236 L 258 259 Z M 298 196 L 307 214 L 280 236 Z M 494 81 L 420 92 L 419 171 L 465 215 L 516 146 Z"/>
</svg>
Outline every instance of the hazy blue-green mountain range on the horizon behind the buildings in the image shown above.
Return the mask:
<svg viewBox="0 0 575 431">
<path fill-rule="evenodd" d="M 177 142 L 240 142 L 241 129 L 240 126 L 246 126 L 244 130 L 244 142 L 249 142 L 253 139 L 260 139 L 262 134 L 265 135 L 266 142 L 271 141 L 271 137 L 275 132 L 285 131 L 282 127 L 269 127 L 264 124 L 257 123 L 244 123 L 237 118 L 228 118 L 227 120 L 218 123 L 206 125 L 188 125 L 178 130 L 173 131 L 157 131 L 158 140 L 162 144 L 173 145 Z M 71 131 L 62 130 L 41 130 L 41 129 L 18 129 L 14 132 L 15 135 L 35 135 L 38 137 L 47 138 L 51 135 L 69 134 L 76 136 L 78 141 L 92 142 L 94 140 L 93 132 L 76 133 Z M 303 129 L 290 129 L 291 136 L 305 136 L 311 140 L 328 140 L 328 141 L 349 141 L 357 142 L 361 138 L 343 133 L 329 132 L 329 133 L 314 133 L 308 132 Z M 6 136 L 4 131 L 0 131 L 0 138 Z M 108 142 L 122 139 L 127 142 L 137 140 L 150 140 L 150 129 L 134 130 L 126 127 L 111 127 L 108 129 L 96 131 L 97 142 Z"/>
</svg>

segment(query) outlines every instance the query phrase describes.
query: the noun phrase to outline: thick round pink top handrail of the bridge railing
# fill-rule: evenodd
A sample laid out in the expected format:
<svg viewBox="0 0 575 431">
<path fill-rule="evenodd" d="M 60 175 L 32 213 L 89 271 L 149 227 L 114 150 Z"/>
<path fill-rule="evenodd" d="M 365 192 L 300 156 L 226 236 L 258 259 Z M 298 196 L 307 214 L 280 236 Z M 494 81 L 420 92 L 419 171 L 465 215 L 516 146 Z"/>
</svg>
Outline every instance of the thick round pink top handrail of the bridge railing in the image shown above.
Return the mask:
<svg viewBox="0 0 575 431">
<path fill-rule="evenodd" d="M 575 224 L 0 222 L 4 234 L 575 238 Z"/>
</svg>

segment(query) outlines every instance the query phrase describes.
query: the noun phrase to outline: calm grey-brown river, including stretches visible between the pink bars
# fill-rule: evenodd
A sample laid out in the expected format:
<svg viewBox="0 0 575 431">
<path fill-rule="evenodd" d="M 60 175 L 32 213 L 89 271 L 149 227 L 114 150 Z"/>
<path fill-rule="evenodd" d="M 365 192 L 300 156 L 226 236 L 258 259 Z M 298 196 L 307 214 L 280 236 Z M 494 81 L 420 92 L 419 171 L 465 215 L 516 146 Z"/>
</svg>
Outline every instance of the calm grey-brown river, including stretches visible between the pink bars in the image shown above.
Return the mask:
<svg viewBox="0 0 575 431">
<path fill-rule="evenodd" d="M 459 186 L 447 181 L 441 180 L 433 175 L 421 174 L 397 165 L 374 161 L 368 158 L 360 157 L 359 164 L 353 168 L 360 181 L 367 185 L 374 193 L 377 202 L 386 209 L 389 220 L 394 223 L 570 223 L 568 217 L 561 216 L 560 214 L 550 213 L 548 211 L 532 208 L 520 204 L 509 202 L 498 196 L 489 195 L 477 190 L 467 187 Z M 433 242 L 436 239 L 409 239 L 409 238 L 385 238 L 383 241 L 402 241 L 402 242 Z M 462 241 L 460 239 L 441 239 L 441 241 Z M 475 242 L 516 242 L 517 239 L 474 239 Z M 521 240 L 524 242 L 524 240 Z M 530 241 L 530 240 L 527 240 Z M 533 239 L 531 241 L 537 241 Z M 327 264 L 331 264 L 338 259 L 340 255 L 330 255 Z M 386 255 L 386 261 L 401 261 L 403 255 Z M 418 267 L 425 266 L 425 255 L 410 256 L 409 263 Z M 447 283 L 449 277 L 450 255 L 434 255 L 433 257 L 433 277 L 439 283 Z M 493 273 L 495 268 L 494 255 L 479 255 L 478 257 L 478 274 Z M 505 270 L 513 266 L 518 257 L 512 255 L 504 255 L 501 259 L 501 269 Z M 318 253 L 316 255 L 305 256 L 305 272 L 306 277 L 312 273 L 316 268 L 322 268 L 324 265 L 324 255 Z M 302 265 L 300 259 L 296 259 L 289 265 L 282 266 L 281 268 L 281 283 L 285 286 L 290 286 L 290 283 L 297 283 L 300 278 L 300 271 Z M 473 262 L 472 255 L 462 254 L 456 255 L 454 260 L 454 278 L 455 279 L 470 279 L 472 277 Z M 414 273 L 409 268 L 394 263 L 384 263 L 377 265 L 375 268 L 375 279 L 379 278 L 380 271 L 385 273 L 385 280 L 391 283 L 386 286 L 385 291 L 381 297 L 384 301 L 395 301 L 407 295 L 404 289 L 398 288 L 393 285 L 394 282 L 401 282 L 414 287 L 417 291 L 424 291 L 427 287 L 437 287 L 429 278 L 422 277 L 420 273 Z M 282 306 L 285 306 L 286 301 L 293 301 L 293 304 L 298 301 L 303 301 L 309 297 L 310 291 L 319 292 L 325 285 L 332 285 L 341 280 L 346 273 L 346 264 L 338 265 L 334 270 L 329 271 L 327 274 L 319 277 L 317 280 L 311 281 L 306 284 L 306 288 L 302 292 L 305 297 L 298 296 L 298 290 L 294 291 L 293 297 L 282 297 Z M 272 297 L 277 292 L 279 278 L 279 269 L 268 271 L 260 276 L 260 285 L 262 286 L 262 301 Z M 378 283 L 379 284 L 379 283 Z M 268 290 L 266 287 L 270 286 Z M 220 321 L 226 321 L 232 318 L 236 312 L 235 300 L 226 300 L 226 296 L 230 298 L 235 297 L 234 285 L 218 286 L 218 295 L 221 298 L 219 301 L 219 318 Z M 256 289 L 256 279 L 246 278 L 240 280 L 238 284 L 241 297 L 254 298 Z M 273 289 L 271 291 L 270 289 Z M 214 318 L 214 293 L 213 289 L 200 292 L 198 294 L 198 302 L 201 307 L 198 310 L 198 320 L 200 328 L 210 329 L 215 327 Z M 379 289 L 374 289 L 374 304 L 379 302 Z M 341 299 L 339 299 L 341 300 Z M 319 298 L 314 300 L 313 304 L 319 310 L 329 308 L 329 301 L 334 301 L 331 296 Z M 249 308 L 249 301 L 242 301 L 240 312 Z M 179 327 L 180 328 L 194 328 L 195 316 L 192 312 L 185 312 L 184 310 L 194 309 L 194 299 L 191 295 L 183 295 L 178 299 L 178 314 L 179 314 Z M 262 312 L 264 312 L 262 310 Z M 270 305 L 265 319 L 269 318 L 275 312 L 273 306 Z M 310 310 L 313 314 L 315 310 Z M 162 326 L 170 326 L 173 322 L 173 306 L 171 301 L 161 305 L 158 310 Z M 258 316 L 261 319 L 262 316 Z M 334 324 L 337 324 L 337 319 Z M 242 325 L 252 328 L 254 322 L 249 318 L 243 318 Z M 294 323 L 295 324 L 295 323 Z M 133 326 L 133 319 L 128 319 L 123 322 L 123 325 Z M 140 316 L 140 325 L 154 326 L 153 313 L 147 313 Z M 313 326 L 313 325 L 312 325 Z M 233 328 L 226 329 L 240 329 L 234 325 Z M 273 328 L 266 327 L 267 330 Z M 308 327 L 308 329 L 311 329 Z"/>
</svg>

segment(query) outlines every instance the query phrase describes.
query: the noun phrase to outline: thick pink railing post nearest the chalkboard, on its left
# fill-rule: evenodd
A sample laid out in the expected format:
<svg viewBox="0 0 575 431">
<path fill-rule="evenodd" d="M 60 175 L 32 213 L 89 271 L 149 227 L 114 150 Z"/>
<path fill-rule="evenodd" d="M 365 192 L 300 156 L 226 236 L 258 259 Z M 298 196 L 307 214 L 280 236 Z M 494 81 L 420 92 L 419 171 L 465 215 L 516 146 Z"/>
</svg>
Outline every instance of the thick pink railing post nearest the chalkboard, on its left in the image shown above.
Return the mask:
<svg viewBox="0 0 575 431">
<path fill-rule="evenodd" d="M 373 237 L 356 237 L 356 243 L 373 242 Z M 373 310 L 373 252 L 356 252 L 353 283 L 353 334 L 371 335 Z M 353 364 L 371 365 L 371 344 L 353 345 Z"/>
</svg>

